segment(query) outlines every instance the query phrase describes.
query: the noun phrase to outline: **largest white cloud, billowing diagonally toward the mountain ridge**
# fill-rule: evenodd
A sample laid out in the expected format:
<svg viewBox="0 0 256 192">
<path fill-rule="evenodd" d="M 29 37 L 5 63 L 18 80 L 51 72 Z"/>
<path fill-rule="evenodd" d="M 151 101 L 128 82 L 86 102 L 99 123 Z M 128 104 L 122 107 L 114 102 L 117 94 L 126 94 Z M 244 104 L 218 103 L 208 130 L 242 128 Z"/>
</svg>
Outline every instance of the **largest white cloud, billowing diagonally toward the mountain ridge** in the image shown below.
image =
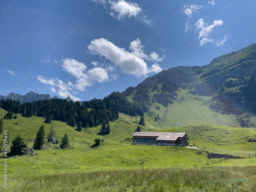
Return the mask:
<svg viewBox="0 0 256 192">
<path fill-rule="evenodd" d="M 158 64 L 152 65 L 150 69 L 147 67 L 147 63 L 143 58 L 149 59 L 150 57 L 143 52 L 142 48 L 143 46 L 138 39 L 132 41 L 130 49 L 133 52 L 131 53 L 104 38 L 94 39 L 88 45 L 91 54 L 104 56 L 113 62 L 115 66 L 120 67 L 124 73 L 140 77 L 150 72 L 160 72 L 162 69 Z"/>
</svg>

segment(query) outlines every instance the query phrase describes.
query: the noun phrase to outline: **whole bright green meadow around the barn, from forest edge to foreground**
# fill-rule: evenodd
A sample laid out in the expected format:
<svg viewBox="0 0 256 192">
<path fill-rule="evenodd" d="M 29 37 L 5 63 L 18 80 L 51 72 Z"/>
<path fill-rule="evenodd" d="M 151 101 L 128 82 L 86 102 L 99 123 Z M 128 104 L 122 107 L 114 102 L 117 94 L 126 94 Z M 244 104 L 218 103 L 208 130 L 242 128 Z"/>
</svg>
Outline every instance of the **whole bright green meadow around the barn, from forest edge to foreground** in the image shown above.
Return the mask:
<svg viewBox="0 0 256 192">
<path fill-rule="evenodd" d="M 196 107 L 196 102 L 193 103 Z M 0 117 L 5 113 L 0 109 Z M 68 134 L 71 148 L 62 150 L 59 144 L 46 143 L 45 150 L 35 151 L 36 156 L 8 157 L 6 191 L 232 191 L 234 187 L 237 191 L 250 191 L 250 185 L 255 185 L 255 177 L 248 176 L 255 172 L 255 152 L 247 141 L 254 129 L 211 124 L 162 129 L 160 120 L 154 122 L 150 115 L 145 114 L 146 126 L 142 126 L 142 131 L 187 132 L 190 143 L 206 149 L 199 153 L 185 147 L 131 145 L 131 135 L 139 121 L 124 114 L 110 122 L 108 135 L 100 134 L 101 126 L 78 132 L 64 122 L 47 124 L 44 118 L 18 114 L 15 120 L 3 120 L 4 129 L 8 130 L 8 147 L 18 134 L 33 140 L 41 125 L 46 135 L 53 125 L 59 140 Z M 163 124 L 164 120 L 161 121 Z M 104 141 L 91 148 L 98 136 Z M 28 140 L 30 147 L 32 140 Z M 207 151 L 244 157 L 250 153 L 251 158 L 208 159 Z M 0 159 L 3 161 L 3 155 Z M 191 178 L 196 178 L 196 182 Z"/>
</svg>

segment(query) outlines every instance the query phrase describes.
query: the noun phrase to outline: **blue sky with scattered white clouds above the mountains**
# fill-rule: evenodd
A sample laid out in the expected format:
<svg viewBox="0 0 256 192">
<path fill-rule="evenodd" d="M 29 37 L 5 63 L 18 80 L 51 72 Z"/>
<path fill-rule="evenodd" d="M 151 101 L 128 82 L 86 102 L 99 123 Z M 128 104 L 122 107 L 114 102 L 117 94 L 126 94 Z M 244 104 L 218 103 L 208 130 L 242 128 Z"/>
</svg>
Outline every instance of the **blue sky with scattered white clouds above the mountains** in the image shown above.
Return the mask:
<svg viewBox="0 0 256 192">
<path fill-rule="evenodd" d="M 3 0 L 0 94 L 104 98 L 256 42 L 254 0 Z"/>
</svg>

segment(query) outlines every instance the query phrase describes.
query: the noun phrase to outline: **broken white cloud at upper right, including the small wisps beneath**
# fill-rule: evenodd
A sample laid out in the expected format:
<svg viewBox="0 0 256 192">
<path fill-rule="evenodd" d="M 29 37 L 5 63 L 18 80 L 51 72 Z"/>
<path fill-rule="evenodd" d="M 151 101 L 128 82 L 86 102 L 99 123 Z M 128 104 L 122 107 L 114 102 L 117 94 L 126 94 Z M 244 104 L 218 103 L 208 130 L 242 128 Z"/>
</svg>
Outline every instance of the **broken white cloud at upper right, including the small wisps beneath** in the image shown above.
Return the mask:
<svg viewBox="0 0 256 192">
<path fill-rule="evenodd" d="M 209 34 L 213 31 L 213 29 L 215 27 L 221 26 L 222 24 L 223 24 L 222 20 L 215 20 L 212 25 L 208 25 L 208 23 L 204 22 L 204 19 L 199 19 L 195 23 L 194 26 L 196 27 L 197 30 L 200 30 L 199 31 L 199 39 L 203 38 L 200 40 L 200 46 L 203 46 L 206 42 L 211 42 L 211 43 L 216 42 L 212 38 L 207 38 L 207 37 L 209 36 Z M 225 40 L 222 42 L 222 44 L 225 42 Z M 220 43 L 217 42 L 217 46 L 218 46 L 218 44 L 220 45 L 221 42 Z"/>
</svg>

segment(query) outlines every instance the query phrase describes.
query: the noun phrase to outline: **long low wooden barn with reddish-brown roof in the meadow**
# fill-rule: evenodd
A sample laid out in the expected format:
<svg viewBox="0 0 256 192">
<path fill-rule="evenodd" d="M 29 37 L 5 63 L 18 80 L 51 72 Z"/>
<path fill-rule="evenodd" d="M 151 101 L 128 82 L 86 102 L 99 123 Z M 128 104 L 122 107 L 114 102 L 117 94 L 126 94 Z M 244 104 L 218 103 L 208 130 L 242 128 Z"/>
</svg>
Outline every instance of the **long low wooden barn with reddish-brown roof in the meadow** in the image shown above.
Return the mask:
<svg viewBox="0 0 256 192">
<path fill-rule="evenodd" d="M 187 133 L 135 132 L 132 144 L 183 146 L 187 145 Z"/>
</svg>

